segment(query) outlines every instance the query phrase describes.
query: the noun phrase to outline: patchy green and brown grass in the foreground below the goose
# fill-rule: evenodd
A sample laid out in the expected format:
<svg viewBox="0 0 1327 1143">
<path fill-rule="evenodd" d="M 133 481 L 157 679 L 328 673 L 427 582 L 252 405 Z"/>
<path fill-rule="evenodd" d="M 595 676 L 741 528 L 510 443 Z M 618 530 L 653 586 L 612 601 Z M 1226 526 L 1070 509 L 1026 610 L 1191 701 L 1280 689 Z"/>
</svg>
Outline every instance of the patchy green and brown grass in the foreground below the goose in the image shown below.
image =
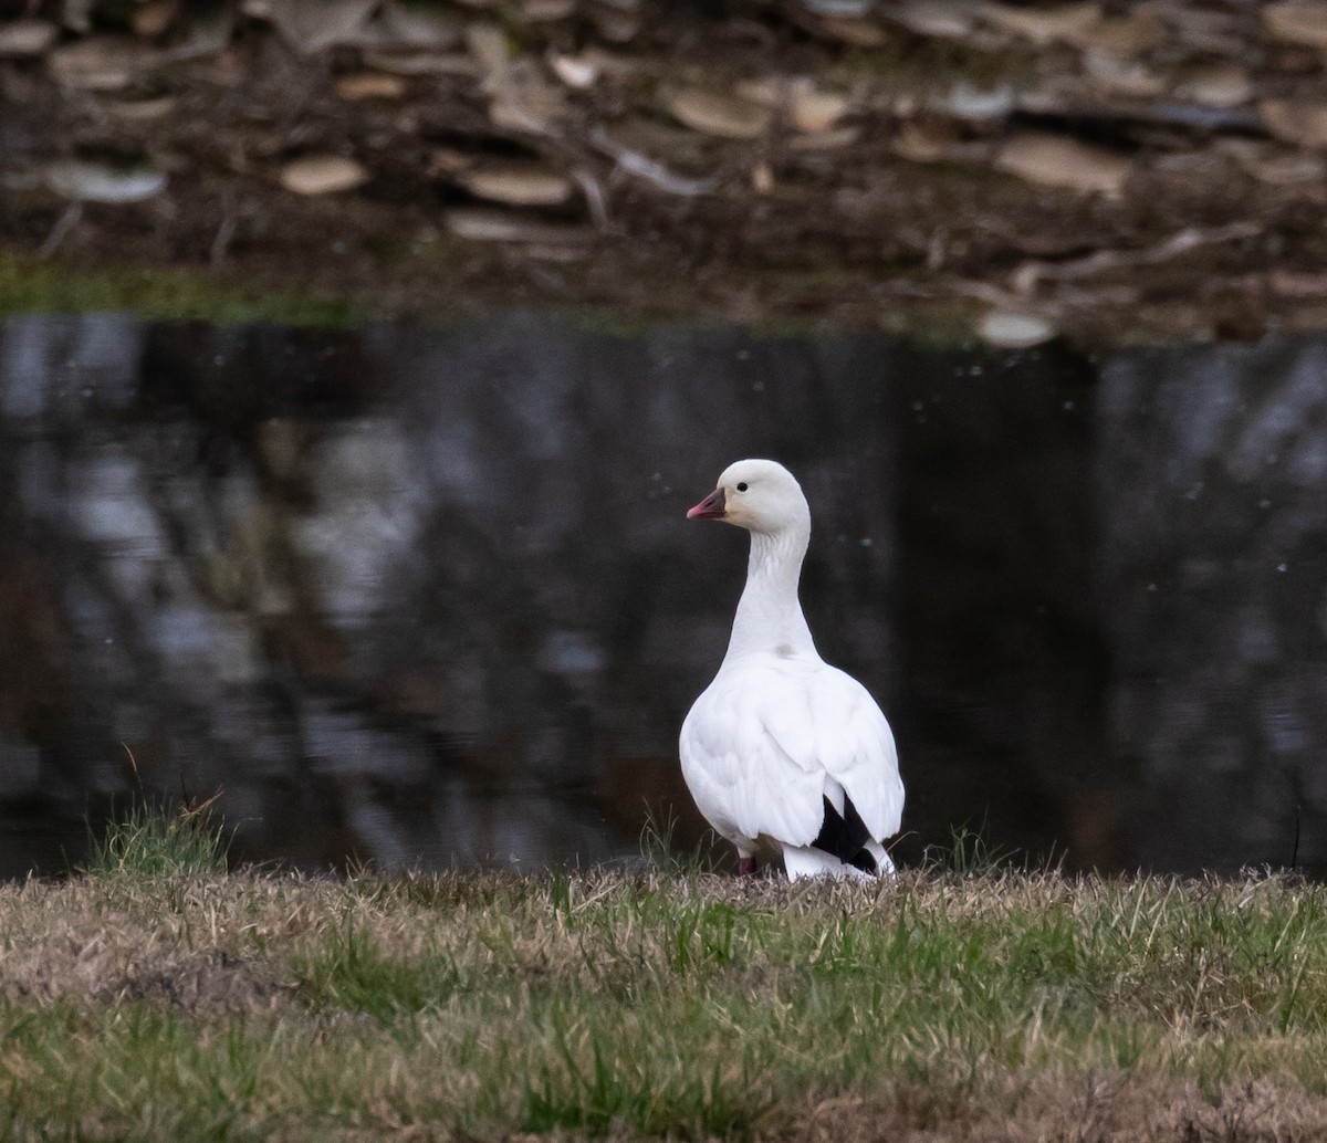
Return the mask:
<svg viewBox="0 0 1327 1143">
<path fill-rule="evenodd" d="M 1327 894 L 1289 879 L 311 880 L 121 845 L 0 888 L 4 1139 L 1323 1131 Z"/>
</svg>

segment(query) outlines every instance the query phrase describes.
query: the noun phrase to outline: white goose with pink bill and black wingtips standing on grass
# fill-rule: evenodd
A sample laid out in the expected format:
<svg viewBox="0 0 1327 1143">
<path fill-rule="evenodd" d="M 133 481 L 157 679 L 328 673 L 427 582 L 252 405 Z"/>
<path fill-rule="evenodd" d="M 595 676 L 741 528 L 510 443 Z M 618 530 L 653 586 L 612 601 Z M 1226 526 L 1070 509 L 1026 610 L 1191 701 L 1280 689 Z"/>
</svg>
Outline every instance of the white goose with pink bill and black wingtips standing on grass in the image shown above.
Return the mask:
<svg viewBox="0 0 1327 1143">
<path fill-rule="evenodd" d="M 686 514 L 751 533 L 729 652 L 682 724 L 697 808 L 736 846 L 739 872 L 760 853 L 782 855 L 792 880 L 892 874 L 881 842 L 904 809 L 894 736 L 867 688 L 816 654 L 798 602 L 811 538 L 802 487 L 772 460 L 739 460 Z"/>
</svg>

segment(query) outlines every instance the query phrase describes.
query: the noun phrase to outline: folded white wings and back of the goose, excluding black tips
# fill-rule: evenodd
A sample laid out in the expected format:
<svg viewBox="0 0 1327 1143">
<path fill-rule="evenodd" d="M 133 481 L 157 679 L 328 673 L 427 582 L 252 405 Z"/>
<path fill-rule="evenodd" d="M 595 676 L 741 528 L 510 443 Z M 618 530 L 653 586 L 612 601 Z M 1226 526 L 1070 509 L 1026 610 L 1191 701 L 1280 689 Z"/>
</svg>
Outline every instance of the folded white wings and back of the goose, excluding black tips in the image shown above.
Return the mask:
<svg viewBox="0 0 1327 1143">
<path fill-rule="evenodd" d="M 809 845 L 821 798 L 841 812 L 844 792 L 872 838 L 898 831 L 894 736 L 867 688 L 825 663 L 751 655 L 719 671 L 682 724 L 681 754 L 697 806 L 733 842 Z"/>
</svg>

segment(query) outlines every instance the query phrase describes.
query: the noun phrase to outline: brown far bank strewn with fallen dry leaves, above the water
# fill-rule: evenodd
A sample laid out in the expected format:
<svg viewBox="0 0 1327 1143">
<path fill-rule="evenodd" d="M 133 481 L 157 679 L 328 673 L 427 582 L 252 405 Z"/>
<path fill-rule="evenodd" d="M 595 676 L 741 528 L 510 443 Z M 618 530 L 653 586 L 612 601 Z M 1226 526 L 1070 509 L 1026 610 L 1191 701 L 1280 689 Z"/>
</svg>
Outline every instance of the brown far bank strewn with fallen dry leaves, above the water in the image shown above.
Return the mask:
<svg viewBox="0 0 1327 1143">
<path fill-rule="evenodd" d="M 0 302 L 1319 329 L 1324 11 L 0 0 Z"/>
</svg>

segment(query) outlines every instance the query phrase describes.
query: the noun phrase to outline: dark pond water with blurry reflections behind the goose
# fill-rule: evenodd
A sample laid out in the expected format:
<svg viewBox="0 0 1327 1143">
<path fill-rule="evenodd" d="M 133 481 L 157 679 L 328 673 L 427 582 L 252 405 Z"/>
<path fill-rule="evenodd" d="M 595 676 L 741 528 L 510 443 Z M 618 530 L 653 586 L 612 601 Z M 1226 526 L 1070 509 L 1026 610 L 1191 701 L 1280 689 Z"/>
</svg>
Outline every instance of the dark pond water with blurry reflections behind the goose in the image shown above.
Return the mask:
<svg viewBox="0 0 1327 1143">
<path fill-rule="evenodd" d="M 0 874 L 137 790 L 304 867 L 630 858 L 744 537 L 812 504 L 821 652 L 893 723 L 897 855 L 1327 870 L 1327 342 L 932 350 L 531 316 L 0 325 Z"/>
</svg>

